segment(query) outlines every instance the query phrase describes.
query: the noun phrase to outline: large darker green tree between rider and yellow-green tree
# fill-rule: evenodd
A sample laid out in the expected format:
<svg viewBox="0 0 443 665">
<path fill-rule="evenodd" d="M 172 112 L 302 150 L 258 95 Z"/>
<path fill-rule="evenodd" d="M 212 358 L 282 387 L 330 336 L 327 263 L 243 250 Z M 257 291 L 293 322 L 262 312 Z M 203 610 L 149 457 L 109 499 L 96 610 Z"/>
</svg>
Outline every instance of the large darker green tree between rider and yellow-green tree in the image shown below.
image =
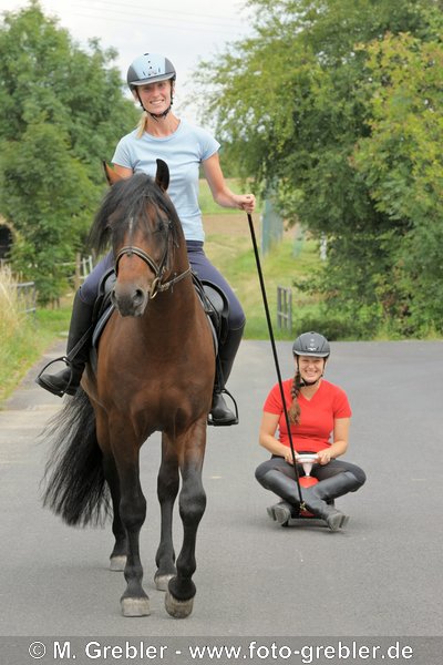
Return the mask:
<svg viewBox="0 0 443 665">
<path fill-rule="evenodd" d="M 395 279 L 399 241 L 412 241 L 411 218 L 380 205 L 369 172 L 356 158 L 374 131 L 373 70 L 362 44 L 388 33 L 439 41 L 440 4 L 250 0 L 256 37 L 200 70 L 202 84 L 210 80 L 206 113 L 222 140 L 235 145 L 230 157 L 262 188 L 277 186 L 277 203 L 290 223 L 328 238 L 324 269 L 317 280 L 309 277 L 309 288 L 322 290 L 329 313 L 340 311 L 352 325 L 363 321 L 362 335 L 383 321 L 394 321 L 402 332 L 420 327 L 415 320 L 411 328 L 413 291 Z M 371 158 L 368 151 L 364 158 Z"/>
</svg>

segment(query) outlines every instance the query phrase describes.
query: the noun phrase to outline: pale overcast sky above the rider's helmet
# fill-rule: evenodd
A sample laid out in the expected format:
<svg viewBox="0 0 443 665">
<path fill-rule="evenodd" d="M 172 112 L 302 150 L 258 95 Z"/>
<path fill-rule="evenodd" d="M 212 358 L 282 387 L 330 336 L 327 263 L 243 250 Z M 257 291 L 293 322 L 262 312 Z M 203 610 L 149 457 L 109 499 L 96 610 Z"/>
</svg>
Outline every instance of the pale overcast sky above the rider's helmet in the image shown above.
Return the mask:
<svg viewBox="0 0 443 665">
<path fill-rule="evenodd" d="M 0 0 L 0 12 L 27 4 Z M 146 51 L 167 55 L 177 70 L 177 108 L 190 121 L 196 120 L 195 110 L 184 108 L 183 101 L 192 95 L 189 75 L 198 59 L 210 58 L 251 31 L 243 0 L 168 0 L 165 9 L 162 0 L 40 0 L 40 4 L 80 44 L 99 38 L 102 48 L 114 47 L 115 64 L 124 76 L 132 60 Z"/>
</svg>

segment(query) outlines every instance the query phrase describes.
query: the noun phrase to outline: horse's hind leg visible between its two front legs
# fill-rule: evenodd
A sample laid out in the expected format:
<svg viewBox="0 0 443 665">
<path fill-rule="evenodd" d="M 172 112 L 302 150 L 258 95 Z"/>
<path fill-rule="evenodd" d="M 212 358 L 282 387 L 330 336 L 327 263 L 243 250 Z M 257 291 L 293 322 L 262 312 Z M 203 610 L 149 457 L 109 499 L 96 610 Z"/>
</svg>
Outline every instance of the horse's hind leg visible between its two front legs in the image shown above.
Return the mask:
<svg viewBox="0 0 443 665">
<path fill-rule="evenodd" d="M 166 434 L 162 437 L 162 464 L 158 471 L 157 495 L 162 512 L 162 531 L 155 563 L 155 585 L 159 591 L 166 591 L 167 584 L 176 574 L 175 552 L 173 544 L 173 509 L 178 494 L 178 460 L 177 452 Z"/>
</svg>

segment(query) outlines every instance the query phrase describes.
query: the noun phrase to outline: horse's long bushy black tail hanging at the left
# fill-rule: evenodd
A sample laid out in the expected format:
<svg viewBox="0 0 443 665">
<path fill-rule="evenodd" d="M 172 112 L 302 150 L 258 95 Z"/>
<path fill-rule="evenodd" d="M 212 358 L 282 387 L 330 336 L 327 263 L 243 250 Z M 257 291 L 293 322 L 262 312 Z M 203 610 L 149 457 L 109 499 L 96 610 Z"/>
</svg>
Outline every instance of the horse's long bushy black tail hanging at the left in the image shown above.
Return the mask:
<svg viewBox="0 0 443 665">
<path fill-rule="evenodd" d="M 43 483 L 43 505 L 70 525 L 103 523 L 110 512 L 102 451 L 92 405 L 81 388 L 51 419 L 42 437 L 52 443 Z"/>
</svg>

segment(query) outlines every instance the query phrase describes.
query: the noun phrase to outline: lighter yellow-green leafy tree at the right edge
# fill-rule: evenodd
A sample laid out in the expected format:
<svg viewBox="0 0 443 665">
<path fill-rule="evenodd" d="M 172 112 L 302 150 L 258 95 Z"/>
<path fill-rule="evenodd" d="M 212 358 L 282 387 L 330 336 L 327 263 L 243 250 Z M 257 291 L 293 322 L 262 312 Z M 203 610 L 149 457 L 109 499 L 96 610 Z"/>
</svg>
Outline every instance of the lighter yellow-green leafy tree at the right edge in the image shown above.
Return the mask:
<svg viewBox="0 0 443 665">
<path fill-rule="evenodd" d="M 354 165 L 377 209 L 403 219 L 392 267 L 409 326 L 443 321 L 443 48 L 411 34 L 387 34 L 365 48 L 371 72 L 371 134 Z M 408 320 L 406 319 L 406 320 Z"/>
</svg>

